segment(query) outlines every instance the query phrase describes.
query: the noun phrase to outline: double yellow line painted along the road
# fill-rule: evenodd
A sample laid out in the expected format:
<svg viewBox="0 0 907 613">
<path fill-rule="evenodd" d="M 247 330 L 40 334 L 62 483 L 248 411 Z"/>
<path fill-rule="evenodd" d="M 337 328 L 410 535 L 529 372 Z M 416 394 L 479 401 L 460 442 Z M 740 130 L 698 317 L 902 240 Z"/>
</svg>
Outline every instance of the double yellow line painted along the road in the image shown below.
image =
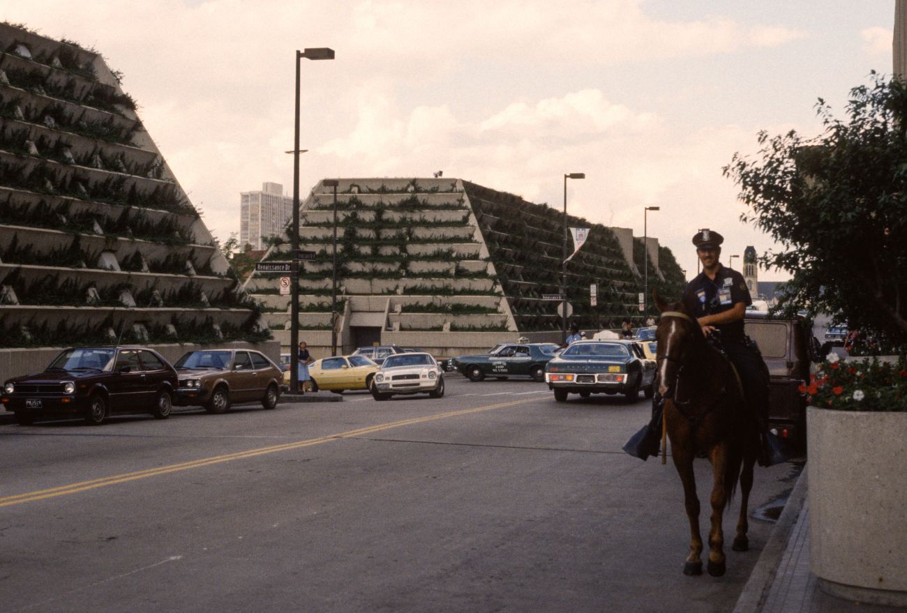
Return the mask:
<svg viewBox="0 0 907 613">
<path fill-rule="evenodd" d="M 77 483 L 70 483 L 68 485 L 60 485 L 58 487 L 49 488 L 47 490 L 39 491 L 28 491 L 23 494 L 15 494 L 13 496 L 4 496 L 0 498 L 0 507 L 9 507 L 15 504 L 22 504 L 23 502 L 31 501 L 41 501 L 47 498 L 54 498 L 56 496 L 67 496 L 69 494 L 74 494 L 79 491 L 94 490 L 96 488 L 107 487 L 109 485 L 116 485 L 118 483 L 125 483 L 135 481 L 137 479 L 145 479 L 147 477 L 156 477 L 161 474 L 167 474 L 169 472 L 180 472 L 188 471 L 192 468 L 200 468 L 202 466 L 210 466 L 211 464 L 218 464 L 220 462 L 232 462 L 234 460 L 242 460 L 245 458 L 255 457 L 257 455 L 264 455 L 266 453 L 275 453 L 275 452 L 286 452 L 292 449 L 300 449 L 302 447 L 308 447 L 310 445 L 317 445 L 320 443 L 329 443 L 330 441 L 336 441 L 338 439 L 353 438 L 357 436 L 362 436 L 364 434 L 380 432 L 382 430 L 390 430 L 392 428 L 400 428 L 405 425 L 412 425 L 414 423 L 424 423 L 432 422 L 439 419 L 446 419 L 448 417 L 457 417 L 459 415 L 481 413 L 483 411 L 492 411 L 493 409 L 502 409 L 508 406 L 514 406 L 516 404 L 524 404 L 530 402 L 530 399 L 517 400 L 510 403 L 500 403 L 500 404 L 489 404 L 487 406 L 478 406 L 472 409 L 461 409 L 459 411 L 450 411 L 448 413 L 440 413 L 436 415 L 425 415 L 423 417 L 414 417 L 412 419 L 400 420 L 398 422 L 388 422 L 388 423 L 378 423 L 372 426 L 366 426 L 365 428 L 358 428 L 356 430 L 347 430 L 346 432 L 328 434 L 327 436 L 319 436 L 314 439 L 307 439 L 305 441 L 297 441 L 296 443 L 283 443 L 279 445 L 271 445 L 269 447 L 258 447 L 257 449 L 249 449 L 244 452 L 234 452 L 234 453 L 225 453 L 223 455 L 215 455 L 210 458 L 201 458 L 199 460 L 192 460 L 190 462 L 180 462 L 178 464 L 170 464 L 168 466 L 159 466 L 157 468 L 150 468 L 144 471 L 135 471 L 135 472 L 124 472 L 122 474 L 115 474 L 109 477 L 102 477 L 100 479 L 92 479 L 90 481 L 83 481 Z"/>
</svg>

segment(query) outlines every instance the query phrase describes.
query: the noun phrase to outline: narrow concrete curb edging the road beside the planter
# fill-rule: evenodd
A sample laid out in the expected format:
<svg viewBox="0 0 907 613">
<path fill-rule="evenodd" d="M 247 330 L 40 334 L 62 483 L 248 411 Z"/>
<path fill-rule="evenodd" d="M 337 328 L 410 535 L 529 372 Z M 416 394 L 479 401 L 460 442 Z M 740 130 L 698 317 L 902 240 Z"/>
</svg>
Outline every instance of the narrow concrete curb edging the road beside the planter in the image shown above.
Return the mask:
<svg viewBox="0 0 907 613">
<path fill-rule="evenodd" d="M 803 472 L 800 472 L 800 476 L 797 477 L 794 490 L 791 491 L 791 495 L 785 503 L 785 510 L 781 511 L 775 529 L 768 537 L 766 547 L 759 554 L 756 566 L 753 567 L 749 580 L 746 581 L 740 597 L 737 598 L 733 613 L 758 613 L 762 610 L 768 591 L 775 581 L 778 566 L 787 550 L 787 542 L 800 518 L 800 511 L 803 511 L 806 491 L 806 469 L 804 467 Z"/>
</svg>

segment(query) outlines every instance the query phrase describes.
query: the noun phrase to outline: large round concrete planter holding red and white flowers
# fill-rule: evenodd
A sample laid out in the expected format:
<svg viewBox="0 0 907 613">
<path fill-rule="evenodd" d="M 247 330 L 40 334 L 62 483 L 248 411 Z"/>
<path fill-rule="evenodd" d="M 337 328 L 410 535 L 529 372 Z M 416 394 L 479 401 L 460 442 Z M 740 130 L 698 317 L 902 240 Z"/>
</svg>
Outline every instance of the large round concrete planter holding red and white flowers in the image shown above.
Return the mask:
<svg viewBox="0 0 907 613">
<path fill-rule="evenodd" d="M 824 591 L 907 606 L 907 413 L 806 410 L 810 569 Z"/>
</svg>

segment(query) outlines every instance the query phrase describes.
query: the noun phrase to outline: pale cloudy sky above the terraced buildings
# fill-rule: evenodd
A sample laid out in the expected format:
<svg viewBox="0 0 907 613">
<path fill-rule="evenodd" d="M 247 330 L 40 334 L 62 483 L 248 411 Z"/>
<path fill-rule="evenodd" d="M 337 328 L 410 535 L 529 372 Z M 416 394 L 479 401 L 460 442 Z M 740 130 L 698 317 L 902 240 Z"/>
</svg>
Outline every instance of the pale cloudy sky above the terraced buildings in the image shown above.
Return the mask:
<svg viewBox="0 0 907 613">
<path fill-rule="evenodd" d="M 0 0 L 0 18 L 94 46 L 219 238 L 239 192 L 292 190 L 294 54 L 303 61 L 300 192 L 323 177 L 472 180 L 649 235 L 696 269 L 770 237 L 721 168 L 756 132 L 818 134 L 891 73 L 894 0 Z M 736 260 L 736 268 L 739 260 Z M 761 271 L 760 279 L 785 278 Z"/>
</svg>

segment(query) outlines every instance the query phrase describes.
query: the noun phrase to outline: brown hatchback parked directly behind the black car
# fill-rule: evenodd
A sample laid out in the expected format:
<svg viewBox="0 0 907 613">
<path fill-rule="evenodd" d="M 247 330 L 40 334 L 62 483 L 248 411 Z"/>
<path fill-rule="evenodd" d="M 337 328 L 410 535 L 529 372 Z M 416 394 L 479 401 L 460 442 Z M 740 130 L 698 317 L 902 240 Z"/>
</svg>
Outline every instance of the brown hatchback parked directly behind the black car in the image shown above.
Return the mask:
<svg viewBox="0 0 907 613">
<path fill-rule="evenodd" d="M 283 372 L 264 354 L 247 349 L 190 351 L 176 363 L 178 406 L 204 406 L 224 413 L 230 404 L 260 402 L 276 408 Z"/>
</svg>

